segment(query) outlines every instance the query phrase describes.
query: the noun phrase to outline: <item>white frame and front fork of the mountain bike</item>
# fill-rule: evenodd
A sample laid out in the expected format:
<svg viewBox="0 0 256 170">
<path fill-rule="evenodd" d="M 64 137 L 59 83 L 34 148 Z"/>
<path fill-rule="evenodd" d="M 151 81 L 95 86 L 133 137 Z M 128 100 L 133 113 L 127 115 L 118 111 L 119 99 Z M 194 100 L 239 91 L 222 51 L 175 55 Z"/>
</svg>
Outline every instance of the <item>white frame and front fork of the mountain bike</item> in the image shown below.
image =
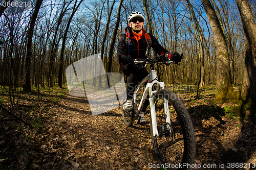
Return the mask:
<svg viewBox="0 0 256 170">
<path fill-rule="evenodd" d="M 140 89 L 140 87 L 145 83 L 147 82 L 146 84 L 146 87 L 145 87 L 145 90 L 143 92 L 143 95 L 142 95 L 142 98 L 141 98 L 141 102 L 137 107 L 137 99 L 136 99 L 136 95 Z M 138 87 L 135 89 L 134 91 L 134 110 L 135 110 L 135 113 L 136 115 L 139 114 L 139 112 L 141 111 L 142 109 L 142 103 L 146 100 L 146 96 L 147 94 L 149 94 L 149 101 L 150 101 L 150 110 L 151 110 L 151 120 L 152 120 L 152 128 L 153 128 L 153 134 L 154 136 L 159 136 L 158 134 L 158 130 L 157 130 L 157 119 L 156 119 L 156 110 L 155 110 L 155 100 L 157 99 L 154 99 L 154 96 L 153 94 L 155 94 L 157 91 L 153 91 L 152 90 L 152 87 L 154 84 L 157 84 L 160 86 L 161 89 L 164 89 L 165 85 L 164 85 L 164 82 L 159 82 L 158 79 L 157 79 L 157 74 L 156 74 L 156 70 L 151 70 L 150 71 L 150 74 L 145 77 L 138 85 Z M 164 102 L 164 112 L 166 114 L 166 123 L 169 123 L 170 124 L 170 113 L 169 113 L 169 109 L 168 109 L 168 102 L 166 99 L 163 99 L 163 102 Z"/>
</svg>

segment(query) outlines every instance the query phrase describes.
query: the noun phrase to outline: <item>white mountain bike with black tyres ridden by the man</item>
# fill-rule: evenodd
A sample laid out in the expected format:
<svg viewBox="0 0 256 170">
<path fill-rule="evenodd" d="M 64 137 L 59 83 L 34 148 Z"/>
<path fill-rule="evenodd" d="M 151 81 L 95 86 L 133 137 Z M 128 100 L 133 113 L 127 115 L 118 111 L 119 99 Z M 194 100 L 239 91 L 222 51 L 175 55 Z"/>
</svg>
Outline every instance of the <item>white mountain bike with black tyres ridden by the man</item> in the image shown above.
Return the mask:
<svg viewBox="0 0 256 170">
<path fill-rule="evenodd" d="M 135 64 L 150 64 L 150 74 L 134 91 L 133 110 L 124 111 L 123 122 L 132 126 L 144 105 L 150 107 L 150 128 L 158 167 L 161 169 L 189 169 L 196 155 L 196 138 L 191 117 L 179 96 L 159 82 L 156 65 L 178 64 L 166 61 L 164 55 L 155 59 L 136 59 Z M 178 64 L 179 65 L 179 64 Z M 160 66 L 159 66 L 160 67 Z M 125 103 L 125 93 L 122 104 Z"/>
</svg>

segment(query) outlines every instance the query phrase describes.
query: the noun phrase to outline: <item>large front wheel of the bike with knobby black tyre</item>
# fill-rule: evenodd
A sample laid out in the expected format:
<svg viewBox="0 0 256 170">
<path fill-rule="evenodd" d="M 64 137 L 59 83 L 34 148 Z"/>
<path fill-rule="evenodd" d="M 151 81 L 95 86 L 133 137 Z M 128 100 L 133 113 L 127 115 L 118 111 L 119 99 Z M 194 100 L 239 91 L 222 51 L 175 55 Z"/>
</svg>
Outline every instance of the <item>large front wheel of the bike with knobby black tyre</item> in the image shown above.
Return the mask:
<svg viewBox="0 0 256 170">
<path fill-rule="evenodd" d="M 172 91 L 158 90 L 154 98 L 159 135 L 153 134 L 151 117 L 151 137 L 159 167 L 189 169 L 196 156 L 196 137 L 189 113 Z"/>
</svg>

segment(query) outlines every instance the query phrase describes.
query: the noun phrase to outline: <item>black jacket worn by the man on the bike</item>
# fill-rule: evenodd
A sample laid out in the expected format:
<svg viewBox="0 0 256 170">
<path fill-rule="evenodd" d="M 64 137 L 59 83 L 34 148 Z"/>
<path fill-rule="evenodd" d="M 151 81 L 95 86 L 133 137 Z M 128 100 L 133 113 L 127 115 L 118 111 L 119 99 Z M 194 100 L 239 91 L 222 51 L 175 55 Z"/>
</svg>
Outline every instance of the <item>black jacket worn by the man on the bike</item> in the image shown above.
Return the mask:
<svg viewBox="0 0 256 170">
<path fill-rule="evenodd" d="M 142 58 L 146 59 L 146 47 L 147 47 L 147 41 L 145 38 L 145 30 L 143 29 L 143 36 L 137 42 L 137 40 L 133 37 L 132 33 L 132 28 L 131 27 L 126 27 L 125 32 L 128 32 L 130 34 L 130 43 L 129 43 L 129 51 L 130 51 L 130 56 L 132 56 L 133 59 L 136 58 Z M 151 47 L 157 52 L 158 55 L 164 54 L 168 52 L 167 50 L 162 47 L 159 42 L 157 41 L 156 37 L 154 37 L 152 34 L 148 33 L 151 37 L 152 45 Z M 118 46 L 117 46 L 117 59 L 119 59 L 120 55 L 128 56 L 128 45 L 125 43 L 126 39 L 126 33 L 122 34 L 118 40 Z"/>
</svg>

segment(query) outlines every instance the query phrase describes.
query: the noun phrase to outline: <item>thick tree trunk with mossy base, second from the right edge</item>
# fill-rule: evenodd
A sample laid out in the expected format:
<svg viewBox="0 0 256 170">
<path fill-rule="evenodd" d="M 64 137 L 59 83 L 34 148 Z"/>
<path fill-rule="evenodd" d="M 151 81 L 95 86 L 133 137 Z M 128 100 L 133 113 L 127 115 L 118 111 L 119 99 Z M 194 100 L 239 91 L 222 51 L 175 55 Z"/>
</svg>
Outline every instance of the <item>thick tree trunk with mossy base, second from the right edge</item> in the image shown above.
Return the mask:
<svg viewBox="0 0 256 170">
<path fill-rule="evenodd" d="M 217 51 L 217 94 L 216 103 L 224 103 L 234 99 L 231 82 L 228 47 L 220 21 L 209 0 L 201 0 L 208 17 Z"/>
</svg>

